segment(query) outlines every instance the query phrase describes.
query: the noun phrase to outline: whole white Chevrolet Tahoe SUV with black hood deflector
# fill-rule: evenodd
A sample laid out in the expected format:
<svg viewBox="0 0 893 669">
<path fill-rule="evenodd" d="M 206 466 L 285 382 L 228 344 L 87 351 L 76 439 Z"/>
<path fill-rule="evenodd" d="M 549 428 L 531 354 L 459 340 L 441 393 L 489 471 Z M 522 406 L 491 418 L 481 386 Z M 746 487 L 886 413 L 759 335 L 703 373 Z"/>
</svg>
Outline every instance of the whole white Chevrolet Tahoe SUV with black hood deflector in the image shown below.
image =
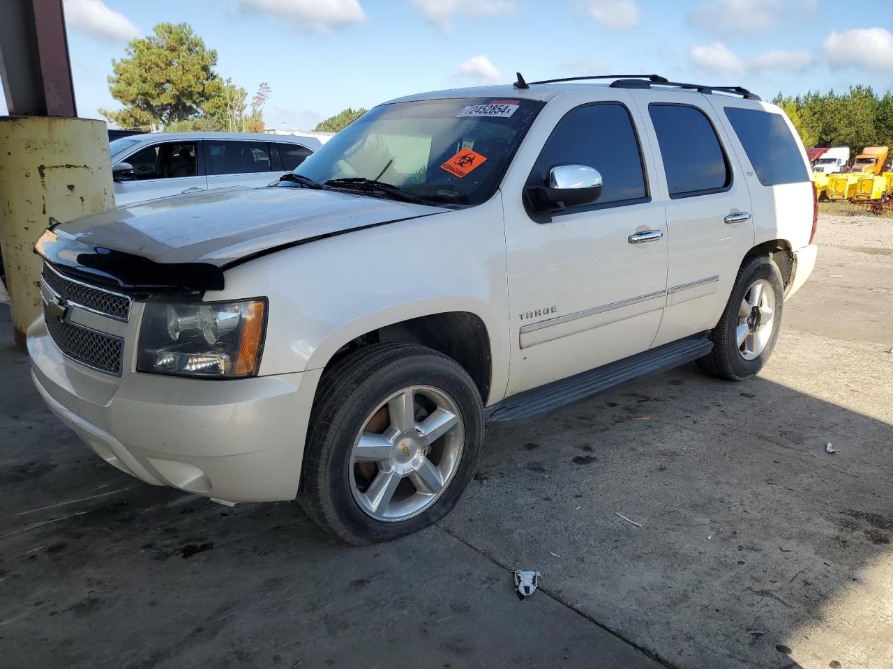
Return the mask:
<svg viewBox="0 0 893 669">
<path fill-rule="evenodd" d="M 46 403 L 115 467 L 383 541 L 484 421 L 772 353 L 815 261 L 803 146 L 744 89 L 519 81 L 381 104 L 276 186 L 47 230 Z"/>
</svg>

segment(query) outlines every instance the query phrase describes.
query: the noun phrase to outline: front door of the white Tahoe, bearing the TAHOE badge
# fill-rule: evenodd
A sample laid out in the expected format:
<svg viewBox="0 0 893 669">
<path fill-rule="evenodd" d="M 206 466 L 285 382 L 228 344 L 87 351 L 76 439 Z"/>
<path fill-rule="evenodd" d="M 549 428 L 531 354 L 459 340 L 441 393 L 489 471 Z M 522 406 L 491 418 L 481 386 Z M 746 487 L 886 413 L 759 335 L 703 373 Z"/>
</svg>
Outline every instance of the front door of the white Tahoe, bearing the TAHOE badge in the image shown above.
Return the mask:
<svg viewBox="0 0 893 669">
<path fill-rule="evenodd" d="M 526 186 L 545 185 L 555 166 L 585 165 L 602 175 L 597 202 L 541 216 L 504 194 L 507 395 L 646 351 L 660 325 L 667 238 L 663 205 L 651 195 L 655 174 L 643 160 L 650 147 L 625 91 L 596 95 L 605 102 L 547 105 L 538 127 L 555 129 Z"/>
</svg>

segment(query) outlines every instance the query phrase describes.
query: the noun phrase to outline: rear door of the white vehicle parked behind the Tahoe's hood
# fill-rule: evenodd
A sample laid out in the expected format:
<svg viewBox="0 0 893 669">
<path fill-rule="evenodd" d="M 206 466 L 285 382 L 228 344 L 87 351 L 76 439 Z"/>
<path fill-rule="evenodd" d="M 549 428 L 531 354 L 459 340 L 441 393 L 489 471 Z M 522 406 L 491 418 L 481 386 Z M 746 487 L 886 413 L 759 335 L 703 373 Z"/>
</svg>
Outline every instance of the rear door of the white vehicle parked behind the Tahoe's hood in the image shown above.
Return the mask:
<svg viewBox="0 0 893 669">
<path fill-rule="evenodd" d="M 205 139 L 208 188 L 267 186 L 280 177 L 272 171 L 270 143 L 245 139 Z"/>
</svg>

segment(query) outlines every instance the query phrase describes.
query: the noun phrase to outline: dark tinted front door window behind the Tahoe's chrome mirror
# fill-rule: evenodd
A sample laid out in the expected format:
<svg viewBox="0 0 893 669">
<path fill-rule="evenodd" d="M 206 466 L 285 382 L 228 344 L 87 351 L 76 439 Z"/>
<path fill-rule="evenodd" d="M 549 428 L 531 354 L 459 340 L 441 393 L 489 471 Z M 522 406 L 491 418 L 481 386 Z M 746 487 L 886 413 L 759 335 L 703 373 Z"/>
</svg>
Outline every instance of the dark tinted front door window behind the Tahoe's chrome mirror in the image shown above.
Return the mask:
<svg viewBox="0 0 893 669">
<path fill-rule="evenodd" d="M 602 194 L 595 206 L 647 195 L 638 139 L 622 104 L 589 104 L 565 114 L 533 169 L 537 186 L 546 184 L 556 165 L 586 165 L 601 173 Z"/>
</svg>

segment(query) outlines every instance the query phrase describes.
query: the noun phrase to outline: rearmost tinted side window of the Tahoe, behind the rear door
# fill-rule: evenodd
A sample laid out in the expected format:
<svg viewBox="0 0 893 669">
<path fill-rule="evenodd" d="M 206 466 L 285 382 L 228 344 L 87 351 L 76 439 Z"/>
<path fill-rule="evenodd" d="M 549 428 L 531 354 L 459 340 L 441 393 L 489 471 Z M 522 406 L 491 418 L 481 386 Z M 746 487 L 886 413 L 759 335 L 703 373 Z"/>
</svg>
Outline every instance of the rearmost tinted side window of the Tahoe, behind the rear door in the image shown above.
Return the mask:
<svg viewBox="0 0 893 669">
<path fill-rule="evenodd" d="M 776 186 L 809 181 L 800 148 L 781 114 L 726 107 L 726 118 L 735 128 L 761 184 Z"/>
</svg>

